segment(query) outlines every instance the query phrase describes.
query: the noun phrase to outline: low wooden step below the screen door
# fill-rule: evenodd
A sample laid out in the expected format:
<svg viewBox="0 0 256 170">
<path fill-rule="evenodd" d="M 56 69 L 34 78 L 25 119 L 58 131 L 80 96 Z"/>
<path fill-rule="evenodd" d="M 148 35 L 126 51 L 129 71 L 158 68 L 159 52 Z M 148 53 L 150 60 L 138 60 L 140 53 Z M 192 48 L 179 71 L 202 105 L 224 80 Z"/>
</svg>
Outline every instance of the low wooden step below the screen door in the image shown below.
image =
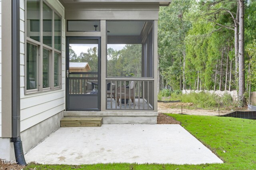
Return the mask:
<svg viewBox="0 0 256 170">
<path fill-rule="evenodd" d="M 102 117 L 64 117 L 60 127 L 101 127 Z"/>
</svg>

